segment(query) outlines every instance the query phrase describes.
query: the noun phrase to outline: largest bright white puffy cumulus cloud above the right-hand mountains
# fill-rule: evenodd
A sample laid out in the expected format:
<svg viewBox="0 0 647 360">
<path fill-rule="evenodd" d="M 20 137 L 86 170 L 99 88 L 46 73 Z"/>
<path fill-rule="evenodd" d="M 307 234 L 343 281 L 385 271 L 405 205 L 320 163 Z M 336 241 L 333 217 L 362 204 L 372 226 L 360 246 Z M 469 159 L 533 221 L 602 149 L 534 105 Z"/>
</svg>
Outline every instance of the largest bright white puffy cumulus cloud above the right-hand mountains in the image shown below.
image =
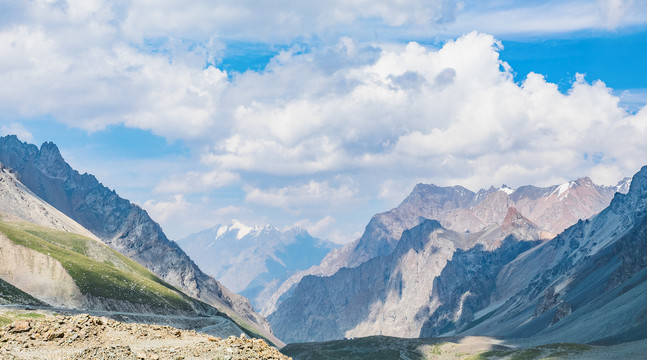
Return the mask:
<svg viewBox="0 0 647 360">
<path fill-rule="evenodd" d="M 382 50 L 372 63 L 332 74 L 321 71 L 316 53 L 285 55 L 271 72 L 249 75 L 280 100 L 239 107 L 233 135 L 205 161 L 275 176 L 350 172 L 362 185 L 394 174 L 471 186 L 579 177 L 597 166 L 585 154 L 623 161 L 616 154 L 626 144 L 604 134 L 644 130 L 611 89 L 584 75 L 567 94 L 534 73 L 516 84 L 499 47 L 492 36 L 470 33 L 437 51 L 416 43 Z M 245 76 L 231 86 L 241 91 Z M 636 146 L 643 148 L 638 139 Z M 248 200 L 288 206 L 288 193 L 254 189 Z"/>
</svg>

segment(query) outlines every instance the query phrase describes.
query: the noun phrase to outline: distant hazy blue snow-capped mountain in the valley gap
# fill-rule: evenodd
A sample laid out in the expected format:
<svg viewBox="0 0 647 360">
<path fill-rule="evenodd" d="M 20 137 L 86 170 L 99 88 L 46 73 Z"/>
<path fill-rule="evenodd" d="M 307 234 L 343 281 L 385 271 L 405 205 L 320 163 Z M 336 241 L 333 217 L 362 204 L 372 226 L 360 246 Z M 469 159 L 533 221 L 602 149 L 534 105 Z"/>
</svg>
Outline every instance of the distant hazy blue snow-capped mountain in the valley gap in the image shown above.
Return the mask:
<svg viewBox="0 0 647 360">
<path fill-rule="evenodd" d="M 206 273 L 260 309 L 278 285 L 297 271 L 319 264 L 337 246 L 307 231 L 279 231 L 239 221 L 189 235 L 180 247 Z"/>
</svg>

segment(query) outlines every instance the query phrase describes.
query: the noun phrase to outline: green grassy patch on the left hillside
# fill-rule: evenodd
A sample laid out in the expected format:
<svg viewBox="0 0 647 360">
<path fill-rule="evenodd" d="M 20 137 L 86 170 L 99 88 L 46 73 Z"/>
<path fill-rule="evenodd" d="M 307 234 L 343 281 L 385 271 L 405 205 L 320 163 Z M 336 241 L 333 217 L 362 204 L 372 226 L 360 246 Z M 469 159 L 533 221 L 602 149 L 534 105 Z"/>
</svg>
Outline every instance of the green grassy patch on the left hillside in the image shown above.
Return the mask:
<svg viewBox="0 0 647 360">
<path fill-rule="evenodd" d="M 0 220 L 0 232 L 18 245 L 58 260 L 83 295 L 165 311 L 192 310 L 195 300 L 96 240 L 27 222 Z"/>
</svg>

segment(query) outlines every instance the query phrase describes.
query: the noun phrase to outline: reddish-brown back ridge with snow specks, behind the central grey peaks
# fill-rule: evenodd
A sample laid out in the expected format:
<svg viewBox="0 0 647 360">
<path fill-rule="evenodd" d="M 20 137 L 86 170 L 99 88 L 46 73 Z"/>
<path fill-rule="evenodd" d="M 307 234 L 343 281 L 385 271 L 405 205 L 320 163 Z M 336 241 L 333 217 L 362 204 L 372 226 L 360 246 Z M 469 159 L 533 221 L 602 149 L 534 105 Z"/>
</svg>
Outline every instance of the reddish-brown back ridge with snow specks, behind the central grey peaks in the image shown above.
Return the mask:
<svg viewBox="0 0 647 360">
<path fill-rule="evenodd" d="M 510 208 L 532 222 L 540 231 L 539 239 L 549 239 L 579 218 L 588 218 L 604 209 L 616 191 L 626 191 L 630 179 L 617 186 L 595 185 L 588 178 L 546 188 L 507 186 L 472 192 L 461 186 L 440 187 L 418 184 L 395 209 L 373 216 L 362 237 L 342 249 L 332 251 L 322 263 L 299 272 L 286 280 L 263 309 L 267 316 L 284 301 L 296 301 L 297 285 L 308 275 L 332 276 L 344 267 L 362 263 L 385 254 L 398 246 L 403 232 L 418 225 L 421 219 L 435 219 L 445 229 L 477 234 L 503 225 Z M 490 249 L 486 249 L 490 250 Z M 273 321 L 281 315 L 273 314 Z"/>
</svg>

